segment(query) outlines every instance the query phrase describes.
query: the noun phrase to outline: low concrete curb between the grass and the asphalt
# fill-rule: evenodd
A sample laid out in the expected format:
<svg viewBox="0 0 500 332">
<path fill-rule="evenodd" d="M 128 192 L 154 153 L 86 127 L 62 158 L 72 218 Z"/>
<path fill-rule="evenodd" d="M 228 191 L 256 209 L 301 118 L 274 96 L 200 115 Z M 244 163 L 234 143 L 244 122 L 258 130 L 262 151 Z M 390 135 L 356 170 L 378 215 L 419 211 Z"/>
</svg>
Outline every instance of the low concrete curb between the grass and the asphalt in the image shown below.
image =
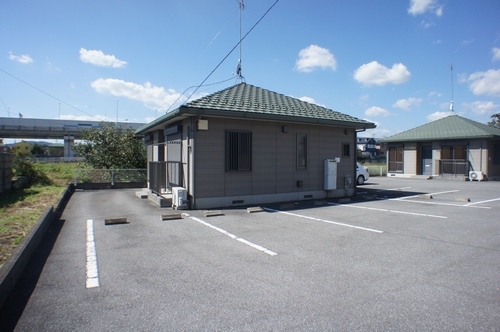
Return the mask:
<svg viewBox="0 0 500 332">
<path fill-rule="evenodd" d="M 42 242 L 52 221 L 61 216 L 74 191 L 74 186 L 70 184 L 56 208 L 54 209 L 53 206 L 49 206 L 45 209 L 28 234 L 22 239 L 19 246 L 9 256 L 2 268 L 0 268 L 0 309 L 7 302 L 10 293 L 14 290 L 17 281 L 23 274 L 26 266 L 28 266 L 33 253 L 37 250 L 40 242 Z"/>
</svg>

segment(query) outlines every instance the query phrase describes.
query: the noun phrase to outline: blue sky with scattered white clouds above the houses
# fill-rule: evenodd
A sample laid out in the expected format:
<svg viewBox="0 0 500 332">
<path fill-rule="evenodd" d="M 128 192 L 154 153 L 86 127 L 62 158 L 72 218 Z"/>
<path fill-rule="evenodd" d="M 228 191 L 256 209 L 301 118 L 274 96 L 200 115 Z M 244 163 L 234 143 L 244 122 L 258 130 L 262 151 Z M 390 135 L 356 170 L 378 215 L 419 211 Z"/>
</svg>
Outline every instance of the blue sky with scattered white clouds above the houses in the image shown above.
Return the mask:
<svg viewBox="0 0 500 332">
<path fill-rule="evenodd" d="M 147 123 L 240 82 L 241 60 L 248 84 L 374 122 L 362 137 L 451 108 L 487 123 L 499 17 L 498 0 L 0 0 L 0 117 Z"/>
</svg>

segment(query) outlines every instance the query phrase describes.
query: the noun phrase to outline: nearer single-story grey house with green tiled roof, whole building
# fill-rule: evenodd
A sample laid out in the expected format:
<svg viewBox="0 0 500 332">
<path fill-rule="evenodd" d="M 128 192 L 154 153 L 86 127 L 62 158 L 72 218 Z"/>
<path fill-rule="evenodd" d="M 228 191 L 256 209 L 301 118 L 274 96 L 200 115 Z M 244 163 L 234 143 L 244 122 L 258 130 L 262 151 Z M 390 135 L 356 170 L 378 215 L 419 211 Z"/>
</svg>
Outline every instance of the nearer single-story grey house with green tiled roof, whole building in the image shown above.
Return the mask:
<svg viewBox="0 0 500 332">
<path fill-rule="evenodd" d="M 149 189 L 183 187 L 190 208 L 208 209 L 354 195 L 356 136 L 368 128 L 375 124 L 240 83 L 136 135 L 147 144 Z"/>
</svg>

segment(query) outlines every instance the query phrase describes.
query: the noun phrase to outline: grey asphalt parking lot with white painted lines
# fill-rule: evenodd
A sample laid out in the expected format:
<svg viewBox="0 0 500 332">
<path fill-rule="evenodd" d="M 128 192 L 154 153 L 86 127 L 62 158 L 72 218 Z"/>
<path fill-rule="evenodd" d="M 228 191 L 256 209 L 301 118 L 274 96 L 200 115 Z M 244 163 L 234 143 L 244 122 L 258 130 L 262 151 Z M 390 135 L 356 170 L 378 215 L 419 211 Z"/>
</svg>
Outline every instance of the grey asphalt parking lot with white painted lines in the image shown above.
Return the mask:
<svg viewBox="0 0 500 332">
<path fill-rule="evenodd" d="M 500 183 L 373 177 L 349 200 L 261 207 L 162 220 L 170 209 L 135 190 L 75 192 L 0 318 L 19 331 L 499 329 Z"/>
</svg>

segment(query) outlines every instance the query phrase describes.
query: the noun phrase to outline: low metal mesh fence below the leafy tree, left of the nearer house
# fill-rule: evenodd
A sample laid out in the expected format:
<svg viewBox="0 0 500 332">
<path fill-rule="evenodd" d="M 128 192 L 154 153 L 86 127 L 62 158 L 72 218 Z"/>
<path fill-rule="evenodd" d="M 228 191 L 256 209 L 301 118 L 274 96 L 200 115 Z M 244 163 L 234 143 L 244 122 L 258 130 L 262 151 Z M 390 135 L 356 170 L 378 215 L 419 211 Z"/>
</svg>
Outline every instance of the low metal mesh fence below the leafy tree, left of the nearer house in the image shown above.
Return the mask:
<svg viewBox="0 0 500 332">
<path fill-rule="evenodd" d="M 73 170 L 74 183 L 129 183 L 146 182 L 147 170 L 139 169 L 92 169 L 77 168 Z"/>
</svg>

